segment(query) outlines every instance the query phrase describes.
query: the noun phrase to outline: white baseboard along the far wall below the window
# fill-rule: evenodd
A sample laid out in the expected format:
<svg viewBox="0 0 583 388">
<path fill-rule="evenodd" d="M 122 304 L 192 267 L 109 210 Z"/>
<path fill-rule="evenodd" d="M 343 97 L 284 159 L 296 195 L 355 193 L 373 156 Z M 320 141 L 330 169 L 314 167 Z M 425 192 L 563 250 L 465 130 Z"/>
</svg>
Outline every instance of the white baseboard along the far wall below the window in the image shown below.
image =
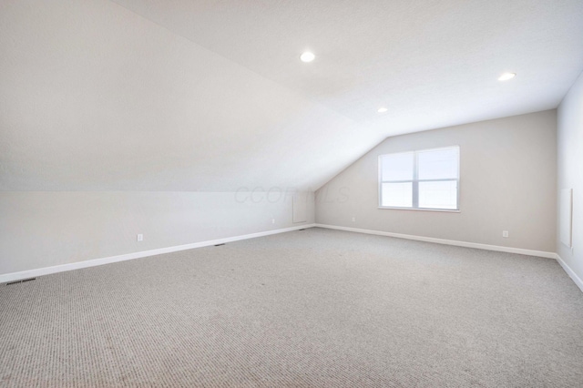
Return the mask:
<svg viewBox="0 0 583 388">
<path fill-rule="evenodd" d="M 349 227 L 341 227 L 341 226 L 318 224 L 318 223 L 316 224 L 316 227 L 317 228 L 333 229 L 333 230 L 347 230 L 347 231 L 354 231 L 357 233 L 365 233 L 365 234 L 375 234 L 378 236 L 396 237 L 398 239 L 435 242 L 436 244 L 455 245 L 457 247 L 476 248 L 478 250 L 496 250 L 499 252 L 518 253 L 518 254 L 527 255 L 527 256 L 537 256 L 537 257 L 542 257 L 542 258 L 547 258 L 547 259 L 557 259 L 557 253 L 546 252 L 544 250 L 523 250 L 521 248 L 501 247 L 499 245 L 479 244 L 477 242 L 435 239 L 433 237 L 423 237 L 423 236 L 414 236 L 411 234 L 392 233 L 390 231 L 367 230 L 367 229 L 349 228 Z"/>
</svg>

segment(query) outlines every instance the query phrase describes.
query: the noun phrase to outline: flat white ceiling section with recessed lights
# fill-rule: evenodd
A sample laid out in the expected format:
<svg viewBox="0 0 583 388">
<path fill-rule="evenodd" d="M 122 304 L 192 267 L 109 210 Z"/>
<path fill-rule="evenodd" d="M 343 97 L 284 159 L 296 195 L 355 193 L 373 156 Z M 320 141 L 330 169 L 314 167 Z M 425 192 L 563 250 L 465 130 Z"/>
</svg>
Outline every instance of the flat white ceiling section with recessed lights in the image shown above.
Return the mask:
<svg viewBox="0 0 583 388">
<path fill-rule="evenodd" d="M 554 108 L 583 70 L 581 0 L 113 1 L 386 135 Z"/>
</svg>

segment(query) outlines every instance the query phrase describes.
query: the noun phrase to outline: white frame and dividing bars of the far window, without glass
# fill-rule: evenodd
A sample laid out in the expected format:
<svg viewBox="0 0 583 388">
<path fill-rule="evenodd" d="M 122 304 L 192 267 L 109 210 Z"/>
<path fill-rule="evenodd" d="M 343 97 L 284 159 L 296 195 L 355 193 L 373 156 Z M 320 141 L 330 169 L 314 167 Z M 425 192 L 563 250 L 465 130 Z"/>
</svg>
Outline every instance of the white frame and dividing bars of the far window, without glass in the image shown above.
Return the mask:
<svg viewBox="0 0 583 388">
<path fill-rule="evenodd" d="M 438 149 L 451 149 L 457 148 L 457 179 L 418 179 L 418 169 L 419 169 L 419 153 L 425 151 L 436 151 Z M 414 154 L 413 157 L 413 179 L 411 180 L 383 180 L 383 157 L 386 156 L 393 156 L 393 155 L 400 155 L 400 154 Z M 384 154 L 379 155 L 378 157 L 378 169 L 379 169 L 379 179 L 378 179 L 378 195 L 379 195 L 379 209 L 404 209 L 404 210 L 422 210 L 422 211 L 445 211 L 445 212 L 460 212 L 460 159 L 461 159 L 461 149 L 459 146 L 448 146 L 448 147 L 439 147 L 439 148 L 424 148 L 424 149 L 415 149 L 413 151 L 406 151 L 406 152 L 394 152 L 391 154 Z M 457 181 L 457 208 L 456 209 L 433 209 L 433 208 L 419 208 L 419 182 L 440 182 L 440 181 Z M 395 206 L 383 206 L 383 183 L 412 183 L 412 207 L 395 207 Z"/>
</svg>

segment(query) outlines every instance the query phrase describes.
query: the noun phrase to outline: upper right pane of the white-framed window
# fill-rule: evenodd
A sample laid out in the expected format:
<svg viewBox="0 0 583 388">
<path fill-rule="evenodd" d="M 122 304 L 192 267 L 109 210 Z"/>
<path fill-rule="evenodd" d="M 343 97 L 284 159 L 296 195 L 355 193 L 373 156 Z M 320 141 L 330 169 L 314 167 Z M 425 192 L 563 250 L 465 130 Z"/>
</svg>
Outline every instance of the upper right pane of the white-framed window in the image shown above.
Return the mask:
<svg viewBox="0 0 583 388">
<path fill-rule="evenodd" d="M 418 153 L 418 179 L 457 179 L 459 148 L 435 149 Z"/>
</svg>

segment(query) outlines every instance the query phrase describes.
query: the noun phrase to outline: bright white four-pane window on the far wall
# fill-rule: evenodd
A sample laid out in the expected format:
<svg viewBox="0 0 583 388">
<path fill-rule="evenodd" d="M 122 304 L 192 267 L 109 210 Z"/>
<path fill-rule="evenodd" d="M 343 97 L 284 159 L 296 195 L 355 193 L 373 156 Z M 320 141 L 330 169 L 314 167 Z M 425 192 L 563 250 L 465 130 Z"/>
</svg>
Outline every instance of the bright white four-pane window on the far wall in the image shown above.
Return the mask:
<svg viewBox="0 0 583 388">
<path fill-rule="evenodd" d="M 459 147 L 381 155 L 379 206 L 459 209 Z"/>
</svg>

